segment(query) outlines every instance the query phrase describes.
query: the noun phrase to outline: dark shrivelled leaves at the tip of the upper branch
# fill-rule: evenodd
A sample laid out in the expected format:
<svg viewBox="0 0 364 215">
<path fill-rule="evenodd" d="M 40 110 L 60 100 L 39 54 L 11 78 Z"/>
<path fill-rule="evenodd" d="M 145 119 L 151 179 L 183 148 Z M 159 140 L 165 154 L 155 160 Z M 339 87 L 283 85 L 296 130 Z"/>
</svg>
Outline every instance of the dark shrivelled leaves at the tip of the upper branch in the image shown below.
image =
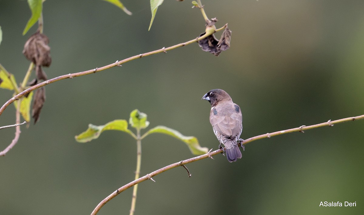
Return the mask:
<svg viewBox="0 0 364 215">
<path fill-rule="evenodd" d="M 212 21 L 213 22 L 213 21 Z M 215 23 L 215 22 L 214 22 Z M 202 33 L 199 37 L 205 35 L 205 32 Z M 226 28 L 222 32 L 220 40 L 217 40 L 216 37 L 212 34 L 205 39 L 199 40 L 198 45 L 205 52 L 210 52 L 215 56 L 219 56 L 222 51 L 230 48 L 230 39 L 231 39 L 231 31 L 229 28 Z"/>
</svg>

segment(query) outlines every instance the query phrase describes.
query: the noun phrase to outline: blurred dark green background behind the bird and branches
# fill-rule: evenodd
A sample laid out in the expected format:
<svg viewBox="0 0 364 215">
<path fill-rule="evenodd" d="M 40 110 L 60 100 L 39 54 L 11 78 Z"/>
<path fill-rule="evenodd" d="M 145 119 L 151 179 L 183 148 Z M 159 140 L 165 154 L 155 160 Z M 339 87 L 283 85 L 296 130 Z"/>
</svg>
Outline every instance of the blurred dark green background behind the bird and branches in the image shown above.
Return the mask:
<svg viewBox="0 0 364 215">
<path fill-rule="evenodd" d="M 153 26 L 149 1 L 123 0 L 133 12 L 100 0 L 46 1 L 48 78 L 196 38 L 205 29 L 190 1 L 165 1 Z M 40 120 L 21 126 L 16 146 L 0 158 L 1 214 L 90 214 L 134 179 L 136 144 L 104 132 L 82 144 L 89 123 L 128 119 L 135 108 L 150 126 L 164 125 L 217 149 L 209 123 L 210 89 L 227 91 L 243 113 L 241 138 L 364 114 L 364 1 L 202 1 L 217 27 L 229 23 L 231 48 L 219 57 L 196 44 L 134 60 L 122 67 L 47 85 Z M 0 1 L 0 63 L 21 82 L 21 53 L 33 27 L 26 1 Z M 217 37 L 220 34 L 217 33 Z M 12 92 L 0 90 L 4 104 Z M 9 106 L 0 126 L 15 122 Z M 363 214 L 364 120 L 292 133 L 246 145 L 243 158 L 222 155 L 139 184 L 135 214 Z M 0 131 L 1 150 L 15 128 Z M 143 132 L 142 132 L 143 133 Z M 191 158 L 183 142 L 150 135 L 142 142 L 145 175 Z M 128 214 L 132 189 L 99 214 Z M 321 201 L 356 207 L 319 207 Z"/>
</svg>

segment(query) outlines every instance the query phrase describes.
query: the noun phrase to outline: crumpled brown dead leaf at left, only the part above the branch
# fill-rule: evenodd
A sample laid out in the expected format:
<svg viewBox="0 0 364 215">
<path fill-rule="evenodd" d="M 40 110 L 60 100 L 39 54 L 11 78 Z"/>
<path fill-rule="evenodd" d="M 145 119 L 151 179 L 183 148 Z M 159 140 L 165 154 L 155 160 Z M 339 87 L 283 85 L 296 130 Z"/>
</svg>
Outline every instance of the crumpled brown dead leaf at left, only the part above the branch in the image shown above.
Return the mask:
<svg viewBox="0 0 364 215">
<path fill-rule="evenodd" d="M 37 79 L 47 80 L 47 75 L 42 67 L 49 67 L 52 63 L 49 39 L 43 33 L 37 31 L 29 37 L 24 45 L 24 56 L 35 64 Z"/>
</svg>

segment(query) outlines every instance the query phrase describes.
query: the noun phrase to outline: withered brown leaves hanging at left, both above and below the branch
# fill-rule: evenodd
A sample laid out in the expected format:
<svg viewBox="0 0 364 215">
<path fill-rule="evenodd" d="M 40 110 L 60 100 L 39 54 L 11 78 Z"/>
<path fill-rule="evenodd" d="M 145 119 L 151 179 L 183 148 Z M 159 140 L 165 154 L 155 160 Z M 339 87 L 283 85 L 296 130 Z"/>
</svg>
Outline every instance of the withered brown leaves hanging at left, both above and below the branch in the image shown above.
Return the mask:
<svg viewBox="0 0 364 215">
<path fill-rule="evenodd" d="M 29 37 L 24 45 L 24 56 L 35 64 L 36 79 L 28 83 L 35 85 L 39 80 L 47 80 L 47 75 L 42 67 L 49 67 L 52 63 L 51 48 L 48 46 L 49 39 L 46 35 L 37 31 Z M 46 90 L 44 87 L 37 89 L 33 98 L 32 118 L 34 124 L 39 120 L 40 111 L 46 101 Z"/>
</svg>

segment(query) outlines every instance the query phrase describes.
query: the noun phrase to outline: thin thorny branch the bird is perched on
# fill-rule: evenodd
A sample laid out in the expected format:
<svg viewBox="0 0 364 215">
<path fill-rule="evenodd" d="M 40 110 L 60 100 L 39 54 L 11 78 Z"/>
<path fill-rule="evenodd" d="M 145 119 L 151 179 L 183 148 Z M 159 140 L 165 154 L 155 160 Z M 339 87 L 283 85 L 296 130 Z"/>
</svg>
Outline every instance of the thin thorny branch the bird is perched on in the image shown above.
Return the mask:
<svg viewBox="0 0 364 215">
<path fill-rule="evenodd" d="M 287 129 L 287 130 L 262 134 L 262 135 L 258 135 L 258 136 L 254 136 L 252 138 L 246 139 L 241 144 L 245 145 L 245 144 L 253 142 L 255 140 L 259 140 L 259 139 L 263 139 L 263 138 L 271 138 L 273 136 L 288 134 L 288 133 L 292 133 L 292 132 L 303 132 L 305 130 L 310 130 L 310 129 L 313 129 L 313 128 L 319 128 L 319 127 L 325 127 L 325 126 L 331 126 L 332 127 L 335 124 L 339 124 L 339 123 L 343 123 L 343 122 L 349 122 L 349 121 L 355 121 L 355 120 L 359 120 L 359 119 L 364 119 L 364 115 L 348 117 L 348 118 L 338 119 L 338 120 L 334 120 L 334 121 L 329 120 L 327 122 L 319 123 L 319 124 L 315 124 L 315 125 L 311 125 L 311 126 L 300 126 L 300 127 L 297 127 L 297 128 L 291 128 L 291 129 Z M 212 158 L 212 156 L 217 155 L 217 154 L 219 154 L 221 152 L 222 152 L 222 149 L 218 149 L 218 150 L 215 150 L 215 151 L 212 151 L 212 152 L 210 150 L 208 153 L 206 153 L 204 155 L 200 155 L 200 156 L 197 156 L 197 157 L 194 157 L 194 158 L 190 158 L 190 159 L 187 159 L 187 160 L 182 160 L 180 162 L 170 164 L 170 165 L 165 166 L 165 167 L 163 167 L 163 168 L 161 168 L 159 170 L 151 172 L 151 173 L 149 173 L 149 174 L 147 174 L 147 175 L 145 175 L 145 176 L 143 176 L 141 178 L 138 178 L 137 180 L 134 180 L 134 181 L 120 187 L 118 190 L 112 192 L 112 194 L 107 196 L 104 200 L 102 200 L 96 206 L 94 211 L 92 211 L 91 215 L 97 214 L 104 204 L 106 204 L 112 198 L 114 198 L 115 196 L 120 194 L 120 192 L 123 192 L 124 190 L 126 190 L 126 189 L 128 189 L 128 188 L 130 188 L 130 187 L 132 187 L 132 186 L 134 186 L 136 184 L 139 184 L 139 183 L 141 183 L 141 182 L 143 182 L 145 180 L 151 179 L 151 177 L 153 177 L 155 175 L 158 175 L 158 174 L 161 174 L 162 172 L 165 172 L 165 171 L 170 170 L 172 168 L 179 167 L 179 166 L 184 166 L 187 163 L 192 163 L 192 162 L 195 162 L 197 160 L 202 160 L 202 159 L 205 159 L 205 158 Z"/>
</svg>

